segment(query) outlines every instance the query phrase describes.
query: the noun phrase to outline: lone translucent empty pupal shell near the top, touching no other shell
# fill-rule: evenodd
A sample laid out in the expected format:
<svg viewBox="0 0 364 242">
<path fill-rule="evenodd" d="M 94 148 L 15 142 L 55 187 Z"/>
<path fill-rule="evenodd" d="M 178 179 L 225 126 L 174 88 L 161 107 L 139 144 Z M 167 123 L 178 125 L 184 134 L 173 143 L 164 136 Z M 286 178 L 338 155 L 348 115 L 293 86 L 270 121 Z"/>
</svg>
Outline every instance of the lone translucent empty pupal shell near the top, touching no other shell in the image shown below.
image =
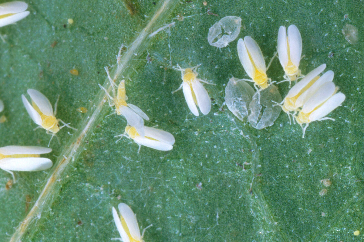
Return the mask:
<svg viewBox="0 0 364 242">
<path fill-rule="evenodd" d="M 238 37 L 240 28 L 240 17 L 223 17 L 210 27 L 209 34 L 207 35 L 207 41 L 209 41 L 209 44 L 212 46 L 223 48 Z"/>
</svg>

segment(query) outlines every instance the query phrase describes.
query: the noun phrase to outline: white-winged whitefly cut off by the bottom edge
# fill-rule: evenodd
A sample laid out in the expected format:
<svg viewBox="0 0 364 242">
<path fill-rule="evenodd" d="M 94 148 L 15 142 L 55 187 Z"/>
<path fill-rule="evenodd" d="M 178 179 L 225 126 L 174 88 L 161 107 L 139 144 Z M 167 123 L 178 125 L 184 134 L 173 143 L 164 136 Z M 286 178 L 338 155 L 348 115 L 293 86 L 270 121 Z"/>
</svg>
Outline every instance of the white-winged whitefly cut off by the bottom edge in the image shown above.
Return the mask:
<svg viewBox="0 0 364 242">
<path fill-rule="evenodd" d="M 124 203 L 120 203 L 118 205 L 118 209 L 120 212 L 120 217 L 114 207 L 112 207 L 112 216 L 114 217 L 115 225 L 119 231 L 122 241 L 142 242 L 145 230 L 152 225 L 146 227 L 141 235 L 137 217 L 131 208 Z"/>
</svg>

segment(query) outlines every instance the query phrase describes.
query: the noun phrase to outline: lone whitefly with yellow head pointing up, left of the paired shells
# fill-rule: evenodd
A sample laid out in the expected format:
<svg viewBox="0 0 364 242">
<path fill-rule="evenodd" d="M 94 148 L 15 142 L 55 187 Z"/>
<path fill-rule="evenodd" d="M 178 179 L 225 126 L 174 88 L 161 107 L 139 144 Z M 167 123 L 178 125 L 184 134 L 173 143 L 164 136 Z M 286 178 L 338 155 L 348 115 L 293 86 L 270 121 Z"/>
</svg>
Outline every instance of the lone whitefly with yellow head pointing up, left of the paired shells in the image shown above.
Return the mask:
<svg viewBox="0 0 364 242">
<path fill-rule="evenodd" d="M 199 66 L 199 65 L 198 65 Z M 176 70 L 181 71 L 181 78 L 183 80 L 181 86 L 172 93 L 182 89 L 183 95 L 185 96 L 187 106 L 190 108 L 191 112 L 198 116 L 199 107 L 202 114 L 208 114 L 211 110 L 211 100 L 209 94 L 207 93 L 205 87 L 201 84 L 201 82 L 205 82 L 199 78 L 197 78 L 198 73 L 195 71 L 198 66 L 194 66 L 192 68 L 182 69 L 178 64 Z M 212 84 L 205 82 L 207 84 Z"/>
</svg>

